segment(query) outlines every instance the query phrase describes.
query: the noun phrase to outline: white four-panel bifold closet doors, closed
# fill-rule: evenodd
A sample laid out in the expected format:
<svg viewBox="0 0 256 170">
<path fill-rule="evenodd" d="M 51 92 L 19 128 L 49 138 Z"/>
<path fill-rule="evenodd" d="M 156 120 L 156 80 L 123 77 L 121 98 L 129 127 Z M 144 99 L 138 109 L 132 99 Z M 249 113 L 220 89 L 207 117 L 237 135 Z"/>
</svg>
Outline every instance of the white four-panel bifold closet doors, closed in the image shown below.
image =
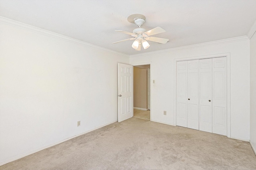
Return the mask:
<svg viewBox="0 0 256 170">
<path fill-rule="evenodd" d="M 177 61 L 177 125 L 226 135 L 226 57 Z"/>
</svg>

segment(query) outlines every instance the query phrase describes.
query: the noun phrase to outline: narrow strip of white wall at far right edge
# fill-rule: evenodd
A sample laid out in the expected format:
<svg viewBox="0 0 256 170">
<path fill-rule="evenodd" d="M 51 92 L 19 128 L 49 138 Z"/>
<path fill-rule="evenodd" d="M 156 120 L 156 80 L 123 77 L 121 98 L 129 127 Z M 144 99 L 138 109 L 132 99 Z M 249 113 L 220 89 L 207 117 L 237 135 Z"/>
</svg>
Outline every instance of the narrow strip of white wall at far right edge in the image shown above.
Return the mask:
<svg viewBox="0 0 256 170">
<path fill-rule="evenodd" d="M 256 32 L 250 39 L 250 143 L 256 154 Z"/>
</svg>

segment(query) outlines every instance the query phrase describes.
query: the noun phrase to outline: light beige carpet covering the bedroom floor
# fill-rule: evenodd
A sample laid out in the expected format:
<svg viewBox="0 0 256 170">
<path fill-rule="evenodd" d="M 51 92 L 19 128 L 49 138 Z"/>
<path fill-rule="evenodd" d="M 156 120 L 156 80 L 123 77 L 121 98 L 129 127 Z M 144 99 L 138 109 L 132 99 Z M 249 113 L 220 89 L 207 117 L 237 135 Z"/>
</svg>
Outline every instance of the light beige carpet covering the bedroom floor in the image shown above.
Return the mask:
<svg viewBox="0 0 256 170">
<path fill-rule="evenodd" d="M 248 142 L 132 117 L 1 170 L 255 170 Z"/>
</svg>

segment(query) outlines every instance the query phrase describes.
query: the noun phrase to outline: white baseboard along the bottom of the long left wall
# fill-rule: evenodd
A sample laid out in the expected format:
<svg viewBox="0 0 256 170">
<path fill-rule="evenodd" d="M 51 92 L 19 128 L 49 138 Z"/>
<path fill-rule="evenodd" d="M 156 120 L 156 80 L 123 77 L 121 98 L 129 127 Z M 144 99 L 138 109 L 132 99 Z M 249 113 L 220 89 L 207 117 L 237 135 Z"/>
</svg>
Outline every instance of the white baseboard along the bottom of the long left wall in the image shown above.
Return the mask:
<svg viewBox="0 0 256 170">
<path fill-rule="evenodd" d="M 117 122 L 117 120 L 116 120 L 116 121 L 113 121 L 113 122 L 110 122 L 110 123 L 107 123 L 107 124 L 105 124 L 105 125 L 102 125 L 102 126 L 96 127 L 96 128 L 91 129 L 91 130 L 89 130 L 89 131 L 85 131 L 85 132 L 80 133 L 80 134 L 78 134 L 78 135 L 75 135 L 75 136 L 69 137 L 69 138 L 67 138 L 67 139 L 64 139 L 64 140 L 58 141 L 58 142 L 53 143 L 53 144 L 51 144 L 51 145 L 47 145 L 46 147 L 42 147 L 42 148 L 40 148 L 40 149 L 36 149 L 36 150 L 33 150 L 33 151 L 28 152 L 28 153 L 26 153 L 26 154 L 22 154 L 22 155 L 20 155 L 20 156 L 15 157 L 15 158 L 12 158 L 12 159 L 6 160 L 6 161 L 4 161 L 4 162 L 1 162 L 1 163 L 0 163 L 0 166 L 2 166 L 2 165 L 4 165 L 4 164 L 8 164 L 8 163 L 10 163 L 10 162 L 12 162 L 12 161 L 14 161 L 14 160 L 18 160 L 18 159 L 23 158 L 23 157 L 25 157 L 25 156 L 28 156 L 28 155 L 30 155 L 30 154 L 33 154 L 33 153 L 39 152 L 40 150 L 44 150 L 44 149 L 46 149 L 46 148 L 53 147 L 54 145 L 58 145 L 58 144 L 60 144 L 60 143 L 62 143 L 62 142 L 65 142 L 65 141 L 68 141 L 68 140 L 73 139 L 73 138 L 75 138 L 75 137 L 78 137 L 78 136 L 84 135 L 84 134 L 89 133 L 89 132 L 91 132 L 91 131 L 94 131 L 94 130 L 96 130 L 96 129 L 100 129 L 101 127 L 104 127 L 104 126 L 110 125 L 110 124 L 115 123 L 115 122 Z"/>
</svg>

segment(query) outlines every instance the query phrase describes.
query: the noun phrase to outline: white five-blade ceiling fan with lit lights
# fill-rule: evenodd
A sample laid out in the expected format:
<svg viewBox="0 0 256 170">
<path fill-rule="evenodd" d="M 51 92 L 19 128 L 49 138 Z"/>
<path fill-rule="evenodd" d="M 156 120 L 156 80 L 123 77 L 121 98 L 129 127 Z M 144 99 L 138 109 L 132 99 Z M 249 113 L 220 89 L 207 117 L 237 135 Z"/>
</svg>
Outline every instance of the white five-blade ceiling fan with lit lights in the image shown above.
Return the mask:
<svg viewBox="0 0 256 170">
<path fill-rule="evenodd" d="M 125 33 L 128 35 L 132 35 L 132 37 L 134 38 L 124 39 L 121 41 L 114 42 L 112 44 L 120 43 L 122 41 L 127 41 L 127 40 L 134 40 L 134 42 L 132 43 L 132 48 L 134 48 L 136 51 L 140 51 L 141 45 L 143 46 L 144 49 L 147 49 L 150 46 L 148 41 L 154 41 L 162 44 L 165 44 L 169 41 L 169 39 L 165 39 L 165 38 L 150 37 L 151 35 L 164 33 L 165 30 L 162 29 L 161 27 L 156 27 L 156 28 L 150 29 L 149 31 L 146 31 L 146 29 L 141 28 L 141 26 L 145 23 L 145 20 L 146 20 L 146 17 L 144 15 L 132 14 L 127 18 L 127 20 L 130 23 L 135 23 L 138 26 L 138 28 L 134 29 L 132 33 L 127 31 L 122 31 L 122 30 L 116 30 L 116 31 Z"/>
</svg>

